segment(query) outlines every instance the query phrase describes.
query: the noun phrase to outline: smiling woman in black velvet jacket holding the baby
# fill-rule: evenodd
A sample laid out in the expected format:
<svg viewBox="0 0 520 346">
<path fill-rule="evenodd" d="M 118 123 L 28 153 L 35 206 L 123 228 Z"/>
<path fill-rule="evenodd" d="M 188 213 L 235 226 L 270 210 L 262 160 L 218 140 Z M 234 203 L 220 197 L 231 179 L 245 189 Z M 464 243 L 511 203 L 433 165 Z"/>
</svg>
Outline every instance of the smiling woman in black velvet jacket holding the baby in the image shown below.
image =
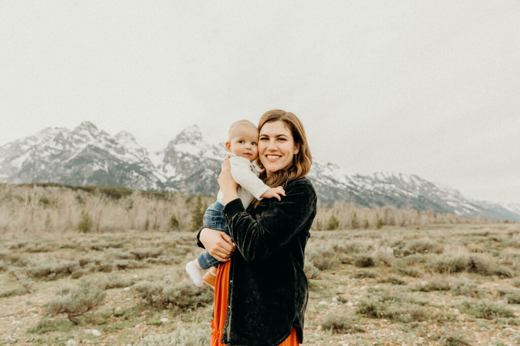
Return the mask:
<svg viewBox="0 0 520 346">
<path fill-rule="evenodd" d="M 316 191 L 304 176 L 312 160 L 294 114 L 270 110 L 258 129 L 258 164 L 265 168 L 261 178 L 269 186 L 283 186 L 285 197 L 256 201 L 245 211 L 224 161 L 218 184 L 231 237 L 209 228 L 197 236 L 213 257 L 230 259 L 217 272 L 212 346 L 303 342 L 304 252 L 316 215 Z"/>
</svg>

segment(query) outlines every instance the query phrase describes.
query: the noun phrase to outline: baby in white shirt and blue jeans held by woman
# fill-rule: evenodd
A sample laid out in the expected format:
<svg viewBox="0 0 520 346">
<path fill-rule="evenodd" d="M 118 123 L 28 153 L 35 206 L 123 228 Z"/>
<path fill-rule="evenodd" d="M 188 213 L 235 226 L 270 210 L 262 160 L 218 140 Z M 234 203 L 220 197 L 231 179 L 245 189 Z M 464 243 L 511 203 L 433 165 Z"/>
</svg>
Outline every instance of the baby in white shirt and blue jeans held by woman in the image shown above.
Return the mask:
<svg viewBox="0 0 520 346">
<path fill-rule="evenodd" d="M 228 131 L 228 142 L 226 150 L 229 151 L 229 164 L 231 165 L 231 175 L 235 182 L 239 184 L 238 197 L 244 205 L 244 209 L 253 200 L 253 197 L 261 200 L 262 198 L 276 197 L 281 200 L 280 195 L 284 196 L 285 191 L 281 186 L 270 188 L 258 178 L 260 173 L 254 161 L 258 157 L 258 129 L 249 120 L 239 120 L 231 124 Z M 220 213 L 224 209 L 224 195 L 218 191 L 215 203 L 207 207 L 204 213 L 204 227 L 224 231 L 229 234 L 228 226 L 224 215 Z M 201 287 L 203 281 L 210 286 L 215 286 L 215 276 L 218 265 L 222 263 L 213 258 L 209 253 L 204 252 L 197 259 L 186 264 L 186 271 L 193 283 Z M 201 270 L 210 269 L 211 275 L 201 275 Z"/>
</svg>

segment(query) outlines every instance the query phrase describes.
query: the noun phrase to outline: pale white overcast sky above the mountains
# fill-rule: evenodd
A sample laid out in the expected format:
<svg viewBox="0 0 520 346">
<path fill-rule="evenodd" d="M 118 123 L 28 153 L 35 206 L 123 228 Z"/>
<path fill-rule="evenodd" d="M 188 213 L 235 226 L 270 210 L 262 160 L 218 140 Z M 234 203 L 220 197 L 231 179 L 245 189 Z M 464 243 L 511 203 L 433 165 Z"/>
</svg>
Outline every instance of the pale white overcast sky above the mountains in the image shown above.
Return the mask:
<svg viewBox="0 0 520 346">
<path fill-rule="evenodd" d="M 283 4 L 282 4 L 283 3 Z M 269 109 L 315 158 L 520 202 L 518 1 L 2 1 L 0 145 L 89 120 L 164 148 Z"/>
</svg>

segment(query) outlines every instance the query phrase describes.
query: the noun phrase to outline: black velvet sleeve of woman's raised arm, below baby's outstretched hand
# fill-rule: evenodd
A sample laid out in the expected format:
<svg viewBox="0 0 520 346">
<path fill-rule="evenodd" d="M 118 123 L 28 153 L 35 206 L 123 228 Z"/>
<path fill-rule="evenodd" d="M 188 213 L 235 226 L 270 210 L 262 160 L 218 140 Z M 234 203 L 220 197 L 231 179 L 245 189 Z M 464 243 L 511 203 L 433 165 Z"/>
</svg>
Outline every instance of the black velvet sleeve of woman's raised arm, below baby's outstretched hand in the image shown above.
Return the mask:
<svg viewBox="0 0 520 346">
<path fill-rule="evenodd" d="M 256 220 L 239 199 L 230 201 L 223 213 L 237 250 L 246 261 L 263 259 L 289 242 L 316 214 L 316 192 L 311 185 L 287 187 L 281 201 L 271 200 Z"/>
</svg>

